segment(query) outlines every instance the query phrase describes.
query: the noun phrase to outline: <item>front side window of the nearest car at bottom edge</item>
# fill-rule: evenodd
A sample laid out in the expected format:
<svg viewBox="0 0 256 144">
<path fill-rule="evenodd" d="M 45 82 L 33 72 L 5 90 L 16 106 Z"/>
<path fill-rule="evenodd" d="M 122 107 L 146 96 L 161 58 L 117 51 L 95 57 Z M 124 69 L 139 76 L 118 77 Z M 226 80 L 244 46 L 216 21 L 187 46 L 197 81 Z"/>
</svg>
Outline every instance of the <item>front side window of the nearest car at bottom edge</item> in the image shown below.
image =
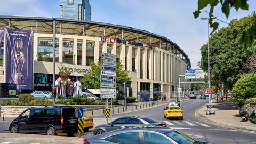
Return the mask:
<svg viewBox="0 0 256 144">
<path fill-rule="evenodd" d="M 156 133 L 144 132 L 143 135 L 144 135 L 145 144 L 172 143 L 169 139 L 165 138 L 163 135 L 159 135 Z"/>
</svg>

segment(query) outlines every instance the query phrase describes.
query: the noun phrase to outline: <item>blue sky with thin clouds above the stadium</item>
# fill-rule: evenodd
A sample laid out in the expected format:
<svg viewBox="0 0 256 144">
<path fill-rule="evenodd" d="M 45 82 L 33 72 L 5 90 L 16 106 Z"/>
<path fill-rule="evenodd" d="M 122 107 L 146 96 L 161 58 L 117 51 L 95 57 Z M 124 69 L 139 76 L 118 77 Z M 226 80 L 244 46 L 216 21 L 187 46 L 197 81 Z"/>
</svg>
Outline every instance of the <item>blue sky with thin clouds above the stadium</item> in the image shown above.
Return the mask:
<svg viewBox="0 0 256 144">
<path fill-rule="evenodd" d="M 0 15 L 60 17 L 59 0 L 0 0 L 0 3 Z M 214 16 L 226 22 L 245 17 L 256 10 L 255 0 L 248 3 L 248 11 L 232 9 L 228 19 L 217 6 Z M 207 43 L 207 20 L 194 18 L 197 0 L 90 0 L 90 4 L 92 21 L 129 26 L 165 36 L 186 52 L 191 66 L 197 66 L 200 61 L 200 48 Z M 207 17 L 207 14 L 202 13 L 200 17 Z M 220 22 L 219 28 L 226 26 Z"/>
</svg>

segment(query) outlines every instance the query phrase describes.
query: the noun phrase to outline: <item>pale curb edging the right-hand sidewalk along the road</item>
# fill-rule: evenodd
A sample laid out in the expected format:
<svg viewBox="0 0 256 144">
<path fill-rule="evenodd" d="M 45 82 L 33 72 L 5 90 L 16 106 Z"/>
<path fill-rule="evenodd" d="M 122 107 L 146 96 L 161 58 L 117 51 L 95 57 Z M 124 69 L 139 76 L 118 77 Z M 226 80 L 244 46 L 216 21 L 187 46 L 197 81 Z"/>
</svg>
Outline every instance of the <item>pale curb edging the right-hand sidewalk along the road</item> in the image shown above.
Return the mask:
<svg viewBox="0 0 256 144">
<path fill-rule="evenodd" d="M 201 107 L 200 109 L 202 109 L 202 108 L 203 108 L 203 107 Z M 200 109 L 199 109 L 199 110 L 200 110 Z M 224 126 L 227 126 L 227 125 L 228 125 L 228 126 L 230 126 L 230 127 L 236 128 L 236 129 L 241 129 L 241 130 L 247 130 L 247 131 L 254 131 L 254 132 L 256 132 L 256 127 L 254 128 L 254 127 L 250 127 L 250 126 L 239 126 L 239 125 L 234 125 L 234 124 L 229 124 L 229 123 L 223 123 L 223 122 L 219 123 L 219 122 L 215 122 L 215 121 L 213 121 L 212 119 L 210 119 L 210 118 L 204 116 L 203 114 L 201 114 L 201 113 L 199 112 L 199 110 L 198 110 L 199 116 L 202 117 L 202 118 L 204 118 L 204 119 L 206 119 L 207 121 L 212 122 L 212 123 L 217 123 L 217 124 L 221 124 L 221 125 L 224 125 Z"/>
</svg>

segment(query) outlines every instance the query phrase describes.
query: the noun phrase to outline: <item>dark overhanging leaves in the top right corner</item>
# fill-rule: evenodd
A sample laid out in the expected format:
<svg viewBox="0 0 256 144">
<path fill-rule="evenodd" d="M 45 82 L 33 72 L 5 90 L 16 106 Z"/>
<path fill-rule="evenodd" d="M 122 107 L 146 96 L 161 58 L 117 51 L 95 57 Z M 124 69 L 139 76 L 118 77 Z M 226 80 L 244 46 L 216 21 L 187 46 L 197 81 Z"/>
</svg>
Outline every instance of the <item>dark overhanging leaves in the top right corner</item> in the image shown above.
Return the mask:
<svg viewBox="0 0 256 144">
<path fill-rule="evenodd" d="M 193 12 L 194 17 L 198 18 L 201 10 L 204 9 L 205 7 L 207 7 L 208 5 L 210 5 L 210 11 L 207 12 L 209 13 L 209 24 L 210 27 L 213 28 L 212 33 L 217 30 L 217 28 L 219 27 L 219 23 L 218 22 L 212 22 L 212 17 L 213 17 L 213 10 L 214 7 L 217 6 L 218 4 L 221 5 L 221 11 L 222 13 L 224 13 L 226 15 L 226 17 L 229 17 L 229 13 L 230 13 L 230 9 L 232 9 L 233 7 L 235 7 L 236 11 L 238 11 L 239 9 L 241 10 L 248 10 L 249 5 L 247 4 L 248 0 L 198 0 L 198 9 Z M 255 14 L 255 13 L 254 13 Z M 247 27 L 247 25 L 244 25 L 243 27 Z M 233 31 L 234 37 L 239 34 L 237 31 Z M 251 46 L 256 39 L 256 19 L 254 19 L 254 23 L 253 25 L 249 26 L 249 28 L 247 28 L 245 31 L 243 31 L 242 33 L 242 37 L 240 38 L 240 44 L 244 45 L 245 49 L 247 49 L 248 46 Z"/>
</svg>

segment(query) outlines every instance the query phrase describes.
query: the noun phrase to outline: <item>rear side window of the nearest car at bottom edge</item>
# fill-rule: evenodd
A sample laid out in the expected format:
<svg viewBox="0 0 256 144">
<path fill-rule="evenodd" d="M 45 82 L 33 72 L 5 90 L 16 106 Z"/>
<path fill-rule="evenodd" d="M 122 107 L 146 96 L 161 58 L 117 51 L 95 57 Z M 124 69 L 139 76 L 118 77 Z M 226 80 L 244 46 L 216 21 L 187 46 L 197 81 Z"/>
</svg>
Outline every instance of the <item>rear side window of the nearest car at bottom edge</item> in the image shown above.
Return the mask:
<svg viewBox="0 0 256 144">
<path fill-rule="evenodd" d="M 139 143 L 139 132 L 127 132 L 121 133 L 116 136 L 117 143 L 129 143 L 138 144 Z"/>
</svg>

